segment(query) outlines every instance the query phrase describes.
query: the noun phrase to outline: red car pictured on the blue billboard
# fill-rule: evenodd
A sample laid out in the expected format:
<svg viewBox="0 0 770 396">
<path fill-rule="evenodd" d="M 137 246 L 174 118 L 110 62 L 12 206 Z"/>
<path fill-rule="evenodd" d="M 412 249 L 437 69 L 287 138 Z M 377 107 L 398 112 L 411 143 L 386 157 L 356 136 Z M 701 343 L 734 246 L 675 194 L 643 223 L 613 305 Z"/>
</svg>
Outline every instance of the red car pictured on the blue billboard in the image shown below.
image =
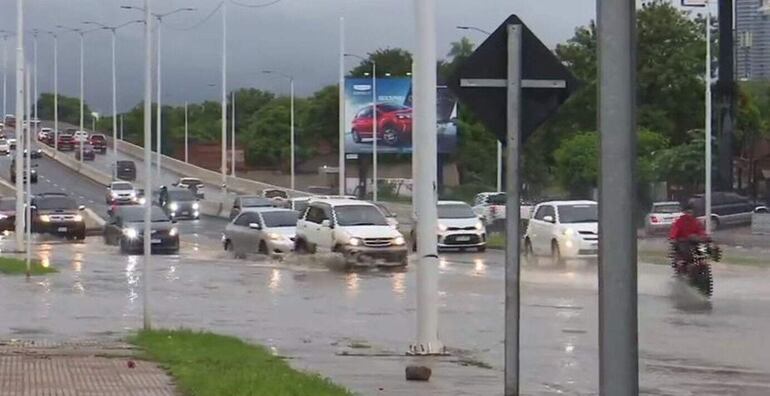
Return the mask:
<svg viewBox="0 0 770 396">
<path fill-rule="evenodd" d="M 353 141 L 361 143 L 372 139 L 374 130 L 373 106 L 366 106 L 353 118 Z M 412 140 L 412 108 L 395 103 L 377 105 L 377 139 L 389 146 L 399 146 Z"/>
</svg>

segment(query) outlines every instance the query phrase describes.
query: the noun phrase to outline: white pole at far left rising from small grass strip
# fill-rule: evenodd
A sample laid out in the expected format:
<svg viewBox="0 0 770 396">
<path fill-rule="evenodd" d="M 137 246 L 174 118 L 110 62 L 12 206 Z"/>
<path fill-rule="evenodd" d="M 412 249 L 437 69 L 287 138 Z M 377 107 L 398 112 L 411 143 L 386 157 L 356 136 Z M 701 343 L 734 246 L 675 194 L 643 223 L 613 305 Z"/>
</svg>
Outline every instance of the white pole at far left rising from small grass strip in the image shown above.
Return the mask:
<svg viewBox="0 0 770 396">
<path fill-rule="evenodd" d="M 16 213 L 24 213 L 24 0 L 16 0 Z M 24 216 L 16 216 L 16 250 L 24 249 Z"/>
</svg>

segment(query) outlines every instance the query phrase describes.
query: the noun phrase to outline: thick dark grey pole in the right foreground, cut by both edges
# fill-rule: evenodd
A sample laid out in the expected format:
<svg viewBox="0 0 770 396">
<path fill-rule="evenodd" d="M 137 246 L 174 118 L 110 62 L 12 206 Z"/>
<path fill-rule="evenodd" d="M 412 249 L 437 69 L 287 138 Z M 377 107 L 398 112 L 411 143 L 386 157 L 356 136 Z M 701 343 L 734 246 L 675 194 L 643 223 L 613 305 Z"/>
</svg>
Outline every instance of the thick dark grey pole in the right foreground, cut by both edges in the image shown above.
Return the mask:
<svg viewBox="0 0 770 396">
<path fill-rule="evenodd" d="M 639 394 L 636 281 L 636 2 L 598 0 L 599 392 Z"/>
</svg>

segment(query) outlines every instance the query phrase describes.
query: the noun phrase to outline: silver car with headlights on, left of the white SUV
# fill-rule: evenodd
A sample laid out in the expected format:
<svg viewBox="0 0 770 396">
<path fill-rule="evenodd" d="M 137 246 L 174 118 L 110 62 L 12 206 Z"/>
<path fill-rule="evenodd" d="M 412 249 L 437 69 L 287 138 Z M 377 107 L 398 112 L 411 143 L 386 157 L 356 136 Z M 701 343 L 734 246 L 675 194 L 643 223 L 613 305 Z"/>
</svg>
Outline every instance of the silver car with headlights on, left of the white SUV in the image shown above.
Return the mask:
<svg viewBox="0 0 770 396">
<path fill-rule="evenodd" d="M 299 213 L 284 208 L 244 208 L 225 227 L 222 243 L 237 257 L 294 250 Z"/>
</svg>

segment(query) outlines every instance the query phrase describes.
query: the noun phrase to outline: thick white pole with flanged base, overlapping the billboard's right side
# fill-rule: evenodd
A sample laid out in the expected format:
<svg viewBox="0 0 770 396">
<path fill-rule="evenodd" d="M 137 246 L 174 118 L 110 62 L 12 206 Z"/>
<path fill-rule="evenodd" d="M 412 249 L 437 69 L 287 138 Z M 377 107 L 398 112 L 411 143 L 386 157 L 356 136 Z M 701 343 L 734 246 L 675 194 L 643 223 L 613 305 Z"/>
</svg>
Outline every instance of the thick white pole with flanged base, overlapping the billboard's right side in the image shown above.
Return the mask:
<svg viewBox="0 0 770 396">
<path fill-rule="evenodd" d="M 417 342 L 414 354 L 444 350 L 438 338 L 438 251 L 436 246 L 436 3 L 414 0 L 415 197 L 417 214 Z"/>
</svg>

